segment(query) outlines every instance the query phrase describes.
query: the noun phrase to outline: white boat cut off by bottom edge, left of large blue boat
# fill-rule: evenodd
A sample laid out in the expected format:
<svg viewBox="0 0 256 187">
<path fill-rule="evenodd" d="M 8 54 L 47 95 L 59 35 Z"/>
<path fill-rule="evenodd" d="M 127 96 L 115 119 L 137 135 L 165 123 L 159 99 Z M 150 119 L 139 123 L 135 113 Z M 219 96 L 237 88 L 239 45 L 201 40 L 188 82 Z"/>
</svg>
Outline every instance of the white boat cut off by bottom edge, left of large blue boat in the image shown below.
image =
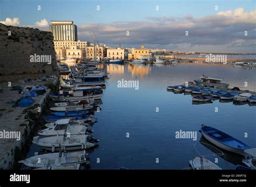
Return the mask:
<svg viewBox="0 0 256 187">
<path fill-rule="evenodd" d="M 204 159 L 203 157 L 195 157 L 190 161 L 190 165 L 192 169 L 196 170 L 221 170 L 221 168 L 216 164 L 207 159 Z"/>
</svg>

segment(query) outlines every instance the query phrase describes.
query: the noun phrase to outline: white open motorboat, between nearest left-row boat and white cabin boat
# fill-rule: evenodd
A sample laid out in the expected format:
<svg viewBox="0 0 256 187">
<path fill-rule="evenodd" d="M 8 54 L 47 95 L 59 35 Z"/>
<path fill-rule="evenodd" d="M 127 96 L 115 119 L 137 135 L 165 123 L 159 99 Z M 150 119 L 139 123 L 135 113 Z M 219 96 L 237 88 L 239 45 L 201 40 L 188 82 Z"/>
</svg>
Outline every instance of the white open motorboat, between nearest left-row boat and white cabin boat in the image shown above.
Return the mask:
<svg viewBox="0 0 256 187">
<path fill-rule="evenodd" d="M 51 152 L 57 152 L 59 150 L 78 150 L 86 149 L 96 146 L 98 139 L 95 139 L 92 135 L 58 135 L 47 136 L 41 138 L 41 136 L 33 137 L 32 143 L 42 147 L 45 150 Z"/>
</svg>

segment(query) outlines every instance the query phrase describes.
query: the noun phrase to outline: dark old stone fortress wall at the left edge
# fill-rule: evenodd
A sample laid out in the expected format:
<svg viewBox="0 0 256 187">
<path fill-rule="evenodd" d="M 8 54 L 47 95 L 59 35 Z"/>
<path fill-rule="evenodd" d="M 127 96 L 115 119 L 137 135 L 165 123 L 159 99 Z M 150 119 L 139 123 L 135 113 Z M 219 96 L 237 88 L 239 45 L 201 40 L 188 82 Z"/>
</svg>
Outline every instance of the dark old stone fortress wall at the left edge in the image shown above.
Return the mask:
<svg viewBox="0 0 256 187">
<path fill-rule="evenodd" d="M 48 55 L 51 64 L 42 59 L 31 62 L 35 54 Z M 51 32 L 0 23 L 0 82 L 54 74 L 58 75 L 58 67 Z"/>
</svg>

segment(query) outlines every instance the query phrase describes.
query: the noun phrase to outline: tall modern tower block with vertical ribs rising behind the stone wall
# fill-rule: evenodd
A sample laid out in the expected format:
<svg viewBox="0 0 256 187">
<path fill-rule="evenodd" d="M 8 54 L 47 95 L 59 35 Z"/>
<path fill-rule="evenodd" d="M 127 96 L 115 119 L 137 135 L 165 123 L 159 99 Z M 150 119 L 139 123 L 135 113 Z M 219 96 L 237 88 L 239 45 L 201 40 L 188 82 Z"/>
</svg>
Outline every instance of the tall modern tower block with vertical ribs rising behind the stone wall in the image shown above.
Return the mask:
<svg viewBox="0 0 256 187">
<path fill-rule="evenodd" d="M 53 34 L 53 41 L 77 41 L 77 26 L 73 21 L 51 21 L 49 30 Z"/>
</svg>

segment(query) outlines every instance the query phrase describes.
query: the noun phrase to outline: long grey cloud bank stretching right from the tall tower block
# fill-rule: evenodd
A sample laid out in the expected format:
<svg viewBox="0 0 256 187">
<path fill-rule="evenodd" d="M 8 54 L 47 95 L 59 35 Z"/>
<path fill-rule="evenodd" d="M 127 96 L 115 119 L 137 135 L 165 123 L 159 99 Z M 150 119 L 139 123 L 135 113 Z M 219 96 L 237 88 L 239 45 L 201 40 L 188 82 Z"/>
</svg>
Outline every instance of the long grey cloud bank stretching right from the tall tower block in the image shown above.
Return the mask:
<svg viewBox="0 0 256 187">
<path fill-rule="evenodd" d="M 173 47 L 180 51 L 205 49 L 210 52 L 241 52 L 242 49 L 246 53 L 256 53 L 253 42 L 255 17 L 256 10 L 246 12 L 243 8 L 238 8 L 199 18 L 187 15 L 175 18 L 149 17 L 146 21 L 125 21 L 118 24 L 84 24 L 78 26 L 78 37 L 92 41 L 92 33 L 96 32 L 99 41 L 107 45 L 138 47 L 144 44 L 147 48 Z M 126 35 L 127 31 L 129 35 Z M 188 36 L 185 35 L 186 31 Z M 248 32 L 247 36 L 245 31 Z M 227 49 L 227 46 L 234 48 Z M 241 48 L 242 46 L 245 48 Z"/>
</svg>

